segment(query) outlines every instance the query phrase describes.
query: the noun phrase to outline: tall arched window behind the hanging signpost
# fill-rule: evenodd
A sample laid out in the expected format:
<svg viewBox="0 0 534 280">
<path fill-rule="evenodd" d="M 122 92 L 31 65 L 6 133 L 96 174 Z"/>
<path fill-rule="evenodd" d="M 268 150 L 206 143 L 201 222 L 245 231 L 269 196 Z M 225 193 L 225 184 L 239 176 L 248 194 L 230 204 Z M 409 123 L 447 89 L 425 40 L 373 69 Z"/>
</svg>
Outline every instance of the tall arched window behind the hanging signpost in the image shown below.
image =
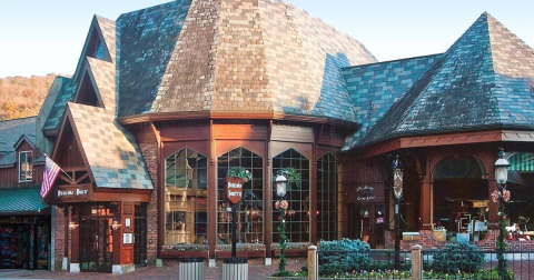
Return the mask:
<svg viewBox="0 0 534 280">
<path fill-rule="evenodd" d="M 264 159 L 245 149 L 237 148 L 217 158 L 217 244 L 231 243 L 231 212 L 226 198 L 226 171 L 243 167 L 253 173 L 253 180 L 244 183 L 243 199 L 237 208 L 237 240 L 239 243 L 264 241 Z"/>
</svg>

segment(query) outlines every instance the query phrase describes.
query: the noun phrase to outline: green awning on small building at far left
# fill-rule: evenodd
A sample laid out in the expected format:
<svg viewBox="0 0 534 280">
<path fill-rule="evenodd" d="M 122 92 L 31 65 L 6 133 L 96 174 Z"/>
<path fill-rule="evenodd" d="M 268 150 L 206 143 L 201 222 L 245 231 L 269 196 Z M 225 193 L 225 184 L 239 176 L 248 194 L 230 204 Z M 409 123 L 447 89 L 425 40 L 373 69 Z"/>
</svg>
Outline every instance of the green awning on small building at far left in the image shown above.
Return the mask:
<svg viewBox="0 0 534 280">
<path fill-rule="evenodd" d="M 48 210 L 49 206 L 41 201 L 39 188 L 0 189 L 0 216 L 39 214 Z"/>
</svg>

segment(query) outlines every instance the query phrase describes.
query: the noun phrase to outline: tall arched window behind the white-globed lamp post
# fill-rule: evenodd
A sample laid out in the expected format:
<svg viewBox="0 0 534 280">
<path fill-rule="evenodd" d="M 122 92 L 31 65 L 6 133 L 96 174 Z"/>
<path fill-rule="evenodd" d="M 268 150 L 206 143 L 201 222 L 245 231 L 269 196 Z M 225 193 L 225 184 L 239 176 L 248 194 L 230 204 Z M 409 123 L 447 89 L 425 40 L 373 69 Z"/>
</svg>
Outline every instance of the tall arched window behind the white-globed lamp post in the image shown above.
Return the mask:
<svg viewBox="0 0 534 280">
<path fill-rule="evenodd" d="M 295 168 L 300 173 L 301 182 L 297 188 L 287 184 L 286 200 L 289 203 L 286 214 L 286 236 L 288 242 L 309 242 L 309 160 L 294 149 L 273 158 L 273 181 L 279 169 Z M 278 197 L 273 189 L 273 204 Z M 280 213 L 273 213 L 273 242 L 278 242 L 280 234 L 276 230 L 280 223 Z"/>
</svg>

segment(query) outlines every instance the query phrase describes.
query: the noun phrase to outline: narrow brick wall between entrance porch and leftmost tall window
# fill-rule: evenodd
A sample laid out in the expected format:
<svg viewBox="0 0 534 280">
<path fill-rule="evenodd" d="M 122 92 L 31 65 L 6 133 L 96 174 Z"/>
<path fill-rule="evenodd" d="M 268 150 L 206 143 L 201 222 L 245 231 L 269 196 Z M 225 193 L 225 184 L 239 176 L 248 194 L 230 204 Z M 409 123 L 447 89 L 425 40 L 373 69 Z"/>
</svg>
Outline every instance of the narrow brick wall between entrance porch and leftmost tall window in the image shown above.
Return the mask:
<svg viewBox="0 0 534 280">
<path fill-rule="evenodd" d="M 142 157 L 147 163 L 148 173 L 152 179 L 154 192 L 147 207 L 147 259 L 149 264 L 155 264 L 158 258 L 158 144 L 157 142 L 140 143 Z"/>
</svg>

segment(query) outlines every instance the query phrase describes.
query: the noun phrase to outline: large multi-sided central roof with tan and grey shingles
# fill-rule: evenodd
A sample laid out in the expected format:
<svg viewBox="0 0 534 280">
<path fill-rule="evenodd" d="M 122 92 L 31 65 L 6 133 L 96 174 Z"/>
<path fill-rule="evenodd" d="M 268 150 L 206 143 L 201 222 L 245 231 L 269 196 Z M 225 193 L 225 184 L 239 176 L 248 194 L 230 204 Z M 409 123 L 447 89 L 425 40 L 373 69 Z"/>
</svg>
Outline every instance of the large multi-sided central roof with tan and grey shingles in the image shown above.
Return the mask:
<svg viewBox="0 0 534 280">
<path fill-rule="evenodd" d="M 274 0 L 184 0 L 122 14 L 119 117 L 274 111 L 355 120 L 339 68 L 358 41 Z"/>
</svg>

